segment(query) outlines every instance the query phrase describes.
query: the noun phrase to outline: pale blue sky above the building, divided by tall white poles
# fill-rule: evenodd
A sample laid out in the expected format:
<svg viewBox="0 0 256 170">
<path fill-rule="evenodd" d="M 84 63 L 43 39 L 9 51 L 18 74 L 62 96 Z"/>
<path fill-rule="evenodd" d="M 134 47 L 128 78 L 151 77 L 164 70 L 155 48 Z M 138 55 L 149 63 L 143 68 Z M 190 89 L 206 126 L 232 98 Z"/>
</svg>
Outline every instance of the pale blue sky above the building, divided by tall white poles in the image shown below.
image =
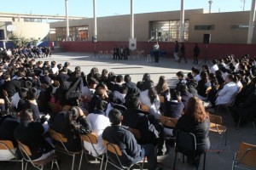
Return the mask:
<svg viewBox="0 0 256 170">
<path fill-rule="evenodd" d="M 3 1 L 3 0 L 1 0 Z M 212 13 L 251 9 L 252 0 L 212 0 Z M 180 10 L 180 0 L 134 0 L 134 14 Z M 131 0 L 96 0 L 96 16 L 130 14 Z M 208 0 L 184 0 L 184 9 L 204 8 Z M 93 17 L 93 0 L 68 0 L 70 16 Z M 65 0 L 8 0 L 0 5 L 1 13 L 65 15 Z"/>
</svg>

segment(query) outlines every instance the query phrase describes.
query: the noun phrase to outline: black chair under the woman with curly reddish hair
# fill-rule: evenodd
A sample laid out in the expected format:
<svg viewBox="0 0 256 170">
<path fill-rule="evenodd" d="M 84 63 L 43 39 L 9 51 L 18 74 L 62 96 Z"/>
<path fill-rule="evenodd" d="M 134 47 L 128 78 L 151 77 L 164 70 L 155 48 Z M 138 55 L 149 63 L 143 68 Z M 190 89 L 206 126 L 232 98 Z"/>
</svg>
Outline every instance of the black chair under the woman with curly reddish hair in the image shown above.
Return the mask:
<svg viewBox="0 0 256 170">
<path fill-rule="evenodd" d="M 176 160 L 177 160 L 177 152 L 180 152 L 183 154 L 183 161 L 184 161 L 184 156 L 199 156 L 199 160 L 201 155 L 199 155 L 196 152 L 196 139 L 195 139 L 195 134 L 193 133 L 186 133 L 183 131 L 177 131 L 177 138 L 176 138 L 176 147 L 175 147 L 175 159 L 174 159 L 174 164 L 173 164 L 173 170 L 175 169 L 176 166 Z M 207 153 L 206 151 L 203 153 L 204 154 L 204 167 L 206 165 L 206 156 Z M 196 165 L 196 169 L 198 169 L 200 164 L 200 161 L 198 161 Z"/>
</svg>

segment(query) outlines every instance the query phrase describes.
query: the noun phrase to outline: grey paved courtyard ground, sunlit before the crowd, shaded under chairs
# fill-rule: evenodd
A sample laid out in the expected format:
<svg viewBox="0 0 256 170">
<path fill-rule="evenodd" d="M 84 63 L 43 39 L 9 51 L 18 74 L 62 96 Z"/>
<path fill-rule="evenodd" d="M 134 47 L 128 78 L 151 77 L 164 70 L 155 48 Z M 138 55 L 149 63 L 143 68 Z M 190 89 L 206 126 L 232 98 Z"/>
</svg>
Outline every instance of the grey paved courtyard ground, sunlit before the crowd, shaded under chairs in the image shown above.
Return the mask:
<svg viewBox="0 0 256 170">
<path fill-rule="evenodd" d="M 174 59 L 160 58 L 160 63 L 147 63 L 146 59 L 129 59 L 129 60 L 113 60 L 112 56 L 109 56 L 108 59 L 104 57 L 104 59 L 98 59 L 90 57 L 91 54 L 82 54 L 82 53 L 62 53 L 62 54 L 54 54 L 51 59 L 54 59 L 57 63 L 61 63 L 69 61 L 72 65 L 72 69 L 74 66 L 81 66 L 82 71 L 85 74 L 90 72 L 90 69 L 96 66 L 99 71 L 102 71 L 103 68 L 108 69 L 108 71 L 113 71 L 116 74 L 130 74 L 132 81 L 137 82 L 142 80 L 143 74 L 148 72 L 150 73 L 154 82 L 158 82 L 160 76 L 165 76 L 168 84 L 170 86 L 176 85 L 176 72 L 184 71 L 189 72 L 191 67 L 193 66 L 191 63 L 191 59 L 188 64 L 177 63 Z M 49 59 L 49 58 L 47 58 Z M 41 59 L 45 60 L 45 59 Z M 235 151 L 238 149 L 238 144 L 240 142 L 247 142 L 250 144 L 256 144 L 256 132 L 253 129 L 253 124 L 248 123 L 245 126 L 241 126 L 239 130 L 235 129 L 235 124 L 231 118 L 231 116 L 224 110 L 219 112 L 220 116 L 223 116 L 224 125 L 228 127 L 228 144 L 226 146 L 220 146 L 219 141 L 220 138 L 218 136 L 210 135 L 210 140 L 212 147 L 207 152 L 207 163 L 206 169 L 218 169 L 225 170 L 231 169 L 232 159 Z M 220 154 L 217 153 L 216 150 L 222 150 Z M 175 151 L 174 148 L 170 148 L 168 155 L 159 156 L 158 161 L 160 167 L 163 169 L 172 169 L 173 161 L 174 161 Z M 61 159 L 61 170 L 71 169 L 72 158 L 69 156 L 63 156 L 60 154 Z M 202 169 L 202 158 L 201 158 L 201 166 Z M 147 165 L 145 165 L 147 166 Z M 79 167 L 79 157 L 77 157 L 75 168 Z M 100 166 L 98 164 L 86 164 L 85 160 L 83 161 L 81 169 L 99 169 Z M 18 170 L 20 169 L 20 163 L 9 164 L 9 163 L 0 163 L 1 170 Z M 32 167 L 28 167 L 27 169 L 33 169 Z M 46 169 L 46 168 L 45 168 Z M 108 169 L 114 169 L 111 166 L 108 166 Z M 182 161 L 177 161 L 176 169 L 195 169 L 195 167 L 190 167 L 186 161 L 183 163 Z"/>
</svg>

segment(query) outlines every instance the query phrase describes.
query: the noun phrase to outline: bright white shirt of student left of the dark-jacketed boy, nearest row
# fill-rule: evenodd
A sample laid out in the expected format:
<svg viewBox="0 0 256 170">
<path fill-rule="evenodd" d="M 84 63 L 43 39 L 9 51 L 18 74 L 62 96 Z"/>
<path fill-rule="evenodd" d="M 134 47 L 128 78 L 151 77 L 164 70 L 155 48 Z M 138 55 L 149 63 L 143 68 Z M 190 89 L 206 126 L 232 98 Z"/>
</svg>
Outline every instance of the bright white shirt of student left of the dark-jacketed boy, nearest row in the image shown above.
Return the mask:
<svg viewBox="0 0 256 170">
<path fill-rule="evenodd" d="M 97 144 L 93 144 L 97 153 L 102 155 L 106 152 L 106 147 L 103 145 L 102 133 L 103 130 L 110 126 L 110 122 L 107 116 L 100 114 L 90 113 L 87 116 L 87 119 L 90 121 L 92 132 L 97 135 Z M 92 156 L 97 156 L 96 151 L 93 149 L 92 145 L 88 142 L 84 142 L 84 148 L 89 151 Z"/>
</svg>

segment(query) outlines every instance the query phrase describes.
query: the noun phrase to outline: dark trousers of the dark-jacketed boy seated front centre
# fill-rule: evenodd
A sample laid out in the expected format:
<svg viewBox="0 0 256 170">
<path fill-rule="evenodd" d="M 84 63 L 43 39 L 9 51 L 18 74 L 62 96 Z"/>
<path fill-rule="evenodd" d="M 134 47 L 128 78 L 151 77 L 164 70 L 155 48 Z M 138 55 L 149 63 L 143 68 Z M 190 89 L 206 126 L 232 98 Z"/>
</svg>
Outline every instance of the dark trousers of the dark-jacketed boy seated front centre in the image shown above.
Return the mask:
<svg viewBox="0 0 256 170">
<path fill-rule="evenodd" d="M 155 170 L 158 165 L 153 144 L 142 144 L 142 159 L 144 158 L 144 156 L 147 156 L 148 158 L 148 169 Z"/>
</svg>

